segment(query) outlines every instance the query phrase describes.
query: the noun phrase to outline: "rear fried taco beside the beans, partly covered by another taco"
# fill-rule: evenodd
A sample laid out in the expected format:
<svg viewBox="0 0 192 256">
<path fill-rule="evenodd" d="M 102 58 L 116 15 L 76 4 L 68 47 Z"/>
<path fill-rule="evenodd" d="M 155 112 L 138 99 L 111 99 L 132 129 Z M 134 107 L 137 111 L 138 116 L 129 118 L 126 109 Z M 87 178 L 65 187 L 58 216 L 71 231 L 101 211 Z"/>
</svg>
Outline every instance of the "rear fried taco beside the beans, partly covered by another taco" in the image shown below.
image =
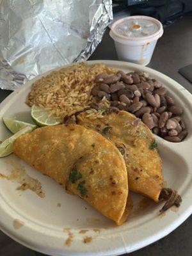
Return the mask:
<svg viewBox="0 0 192 256">
<path fill-rule="evenodd" d="M 92 119 L 82 112 L 76 116 L 76 122 L 108 137 L 122 152 L 131 191 L 159 202 L 163 188 L 162 162 L 155 148 L 154 135 L 139 118 L 126 111 L 118 111 Z"/>
</svg>

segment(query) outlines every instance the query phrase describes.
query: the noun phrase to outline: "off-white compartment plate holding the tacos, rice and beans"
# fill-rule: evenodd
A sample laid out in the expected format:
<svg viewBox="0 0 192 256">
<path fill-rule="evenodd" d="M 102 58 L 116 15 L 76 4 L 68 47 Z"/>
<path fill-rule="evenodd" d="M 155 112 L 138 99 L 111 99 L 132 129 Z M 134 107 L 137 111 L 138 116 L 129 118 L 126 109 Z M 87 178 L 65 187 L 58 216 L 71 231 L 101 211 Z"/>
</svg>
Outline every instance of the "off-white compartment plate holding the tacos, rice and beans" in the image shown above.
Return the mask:
<svg viewBox="0 0 192 256">
<path fill-rule="evenodd" d="M 182 204 L 178 211 L 169 209 L 163 216 L 158 216 L 162 204 L 151 203 L 143 211 L 132 214 L 124 225 L 116 225 L 95 211 L 90 205 L 76 196 L 68 195 L 54 180 L 36 172 L 28 164 L 15 156 L 0 159 L 0 172 L 10 172 L 10 162 L 20 161 L 26 172 L 38 179 L 45 191 L 45 198 L 38 197 L 29 189 L 18 191 L 17 182 L 0 179 L 0 225 L 5 234 L 15 241 L 36 251 L 49 255 L 120 255 L 138 250 L 177 228 L 192 212 L 192 158 L 191 158 L 191 127 L 192 127 L 192 95 L 167 76 L 147 67 L 121 61 L 89 61 L 88 63 L 106 63 L 113 68 L 125 72 L 144 70 L 150 76 L 159 79 L 173 96 L 176 102 L 184 108 L 184 120 L 188 127 L 187 138 L 180 143 L 171 143 L 157 137 L 159 153 L 163 159 L 163 173 L 167 185 L 177 189 L 182 196 Z M 48 72 L 49 73 L 49 72 Z M 36 79 L 40 78 L 36 77 Z M 33 79 L 20 86 L 0 105 L 2 116 L 17 116 L 21 120 L 30 121 L 30 108 L 24 104 Z M 0 123 L 0 138 L 4 140 L 10 133 Z M 134 209 L 140 204 L 142 197 L 133 195 Z M 61 207 L 57 207 L 60 203 Z M 135 210 L 136 211 L 136 210 Z M 13 227 L 13 221 L 24 223 L 19 229 Z M 65 244 L 70 228 L 72 241 Z M 94 230 L 99 228 L 98 230 Z M 79 234 L 80 230 L 88 230 Z M 83 239 L 91 237 L 90 243 Z"/>
</svg>

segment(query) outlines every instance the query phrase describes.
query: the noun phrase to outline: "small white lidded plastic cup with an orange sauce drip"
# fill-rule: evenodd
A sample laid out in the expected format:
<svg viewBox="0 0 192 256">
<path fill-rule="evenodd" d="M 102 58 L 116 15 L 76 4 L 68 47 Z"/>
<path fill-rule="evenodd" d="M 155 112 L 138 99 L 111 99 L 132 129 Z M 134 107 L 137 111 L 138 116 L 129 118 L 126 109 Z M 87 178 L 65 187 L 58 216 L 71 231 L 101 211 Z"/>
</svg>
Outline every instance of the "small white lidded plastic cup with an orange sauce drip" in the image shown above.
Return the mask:
<svg viewBox="0 0 192 256">
<path fill-rule="evenodd" d="M 163 26 L 152 17 L 130 16 L 116 20 L 109 35 L 115 42 L 119 60 L 146 66 L 163 35 Z"/>
</svg>

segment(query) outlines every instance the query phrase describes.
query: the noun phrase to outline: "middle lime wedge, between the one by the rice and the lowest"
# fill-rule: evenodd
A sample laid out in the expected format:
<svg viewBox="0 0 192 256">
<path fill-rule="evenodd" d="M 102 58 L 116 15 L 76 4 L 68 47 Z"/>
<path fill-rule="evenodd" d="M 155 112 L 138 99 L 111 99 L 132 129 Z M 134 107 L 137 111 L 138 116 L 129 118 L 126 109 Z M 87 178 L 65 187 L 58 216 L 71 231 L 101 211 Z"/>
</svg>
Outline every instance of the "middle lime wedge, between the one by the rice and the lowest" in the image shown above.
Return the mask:
<svg viewBox="0 0 192 256">
<path fill-rule="evenodd" d="M 6 127 L 12 132 L 12 133 L 16 133 L 16 132 L 19 132 L 20 129 L 26 127 L 26 126 L 29 126 L 31 128 L 36 129 L 36 125 L 35 124 L 29 124 L 29 123 L 26 123 L 26 122 L 22 122 L 22 121 L 19 121 L 19 120 L 15 120 L 13 118 L 6 118 L 6 117 L 3 117 L 3 122 L 4 124 L 6 125 Z"/>
</svg>

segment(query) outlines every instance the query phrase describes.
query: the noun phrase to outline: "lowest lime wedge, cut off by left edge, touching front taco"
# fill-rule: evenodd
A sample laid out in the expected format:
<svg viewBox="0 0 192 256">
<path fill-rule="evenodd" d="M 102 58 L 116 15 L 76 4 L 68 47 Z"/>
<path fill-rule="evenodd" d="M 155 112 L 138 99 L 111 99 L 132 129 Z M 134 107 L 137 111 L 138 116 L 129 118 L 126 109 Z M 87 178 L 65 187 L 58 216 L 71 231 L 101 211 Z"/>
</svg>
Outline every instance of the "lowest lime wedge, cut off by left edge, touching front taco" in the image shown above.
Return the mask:
<svg viewBox="0 0 192 256">
<path fill-rule="evenodd" d="M 15 133 L 12 137 L 4 140 L 0 144 L 0 157 L 8 156 L 13 152 L 13 142 L 19 138 L 20 135 L 33 131 L 33 128 L 30 126 L 26 126 L 22 128 L 19 132 Z"/>
</svg>

